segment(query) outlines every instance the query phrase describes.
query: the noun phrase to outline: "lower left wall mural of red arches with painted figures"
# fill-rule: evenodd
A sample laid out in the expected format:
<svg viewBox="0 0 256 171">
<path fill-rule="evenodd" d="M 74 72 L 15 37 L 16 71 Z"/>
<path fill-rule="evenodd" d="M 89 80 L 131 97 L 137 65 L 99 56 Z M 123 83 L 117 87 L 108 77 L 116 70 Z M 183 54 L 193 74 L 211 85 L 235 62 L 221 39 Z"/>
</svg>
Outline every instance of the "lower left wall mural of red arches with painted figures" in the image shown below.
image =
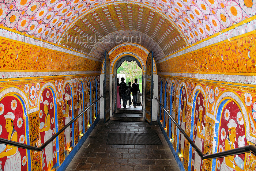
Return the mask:
<svg viewBox="0 0 256 171">
<path fill-rule="evenodd" d="M 84 96 L 86 89 L 83 88 L 83 85 L 86 85 L 89 78 L 88 76 L 71 77 L 71 79 L 49 77 L 44 82 L 40 82 L 42 79 L 33 81 L 28 79 L 20 85 L 12 85 L 12 81 L 10 81 L 8 87 L 0 87 L 0 117 L 3 117 L 0 122 L 0 137 L 40 147 L 58 129 L 63 128 L 67 117 L 70 120 L 75 106 L 79 113 L 83 111 L 84 100 L 86 101 L 87 98 Z M 99 75 L 94 78 L 99 80 Z M 97 88 L 100 92 L 99 87 Z M 75 91 L 71 92 L 71 89 Z M 32 95 L 35 97 L 34 99 L 37 99 L 37 101 L 34 100 L 35 105 L 31 103 Z M 76 104 L 72 104 L 71 97 L 76 96 Z M 90 94 L 88 98 L 90 98 Z M 79 108 L 79 104 L 81 108 Z M 68 109 L 67 112 L 66 109 Z M 66 113 L 67 117 L 65 117 Z M 59 166 L 65 159 L 67 142 L 69 145 L 74 145 L 72 144 L 72 132 L 78 132 L 77 136 L 80 133 L 86 133 L 87 113 L 84 114 L 84 117 L 85 120 L 83 118 L 78 120 L 80 126 L 75 127 L 74 130 L 70 127 L 69 134 L 66 133 L 67 130 L 64 131 L 42 152 L 31 151 L 28 155 L 25 149 L 1 146 L 0 167 L 3 170 L 7 170 L 6 168 L 11 170 L 49 170 Z M 5 125 L 10 126 L 4 129 Z M 66 140 L 68 138 L 66 134 L 69 135 L 69 141 Z"/>
</svg>

